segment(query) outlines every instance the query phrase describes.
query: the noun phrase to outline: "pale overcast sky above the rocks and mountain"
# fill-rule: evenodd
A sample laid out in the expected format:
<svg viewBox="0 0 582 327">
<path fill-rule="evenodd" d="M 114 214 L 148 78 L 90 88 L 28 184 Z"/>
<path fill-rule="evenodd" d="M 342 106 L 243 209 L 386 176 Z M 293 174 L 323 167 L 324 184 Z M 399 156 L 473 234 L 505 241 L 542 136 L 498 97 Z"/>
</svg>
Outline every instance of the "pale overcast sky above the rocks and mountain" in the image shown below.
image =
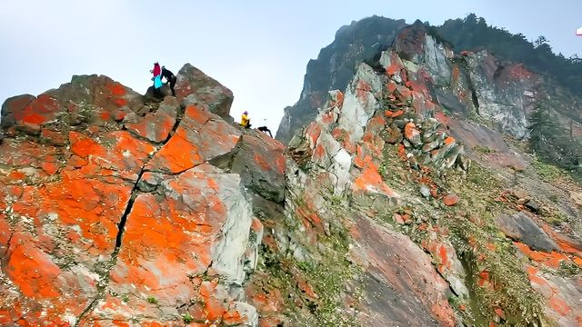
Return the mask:
<svg viewBox="0 0 582 327">
<path fill-rule="evenodd" d="M 582 55 L 575 35 L 582 2 L 573 0 L 6 0 L 0 12 L 0 103 L 41 94 L 73 74 L 105 74 L 143 94 L 155 61 L 174 73 L 191 63 L 234 92 L 236 120 L 248 110 L 274 133 L 283 108 L 299 97 L 308 60 L 341 25 L 366 16 L 440 25 L 476 13 L 530 40 L 545 35 L 556 52 Z"/>
</svg>

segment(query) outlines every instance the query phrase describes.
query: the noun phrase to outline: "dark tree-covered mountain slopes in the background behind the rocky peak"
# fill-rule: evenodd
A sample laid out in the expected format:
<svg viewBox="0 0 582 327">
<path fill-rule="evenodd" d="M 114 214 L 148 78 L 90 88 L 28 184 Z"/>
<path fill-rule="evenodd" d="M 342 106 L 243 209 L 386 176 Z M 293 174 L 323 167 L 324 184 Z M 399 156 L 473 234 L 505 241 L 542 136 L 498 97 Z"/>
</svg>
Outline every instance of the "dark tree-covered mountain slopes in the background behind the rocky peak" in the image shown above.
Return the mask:
<svg viewBox="0 0 582 327">
<path fill-rule="evenodd" d="M 297 128 L 315 117 L 316 109 L 325 98 L 322 94 L 343 89 L 354 73 L 355 64 L 372 59 L 381 47 L 392 45 L 396 33 L 405 26 L 402 20 L 373 16 L 340 28 L 334 42 L 307 64 L 303 91 L 296 104 L 285 108 L 276 138 L 287 143 Z M 501 74 L 507 66 L 523 63 L 528 71 L 540 76 L 537 84 L 531 86 L 536 86 L 537 91 L 543 88 L 544 94 L 556 98 L 552 105 L 554 110 L 567 119 L 582 122 L 577 105 L 582 100 L 576 100 L 582 89 L 582 60 L 577 56 L 566 58 L 554 54 L 544 38 L 534 45 L 524 35 L 512 35 L 507 30 L 487 25 L 485 19 L 473 14 L 465 19 L 448 20 L 441 26 L 426 25 L 426 32 L 457 53 L 487 51 L 490 54 L 487 66 L 495 68 L 492 77 Z M 503 99 L 492 100 L 505 105 Z M 518 136 L 523 134 L 522 131 Z"/>
</svg>

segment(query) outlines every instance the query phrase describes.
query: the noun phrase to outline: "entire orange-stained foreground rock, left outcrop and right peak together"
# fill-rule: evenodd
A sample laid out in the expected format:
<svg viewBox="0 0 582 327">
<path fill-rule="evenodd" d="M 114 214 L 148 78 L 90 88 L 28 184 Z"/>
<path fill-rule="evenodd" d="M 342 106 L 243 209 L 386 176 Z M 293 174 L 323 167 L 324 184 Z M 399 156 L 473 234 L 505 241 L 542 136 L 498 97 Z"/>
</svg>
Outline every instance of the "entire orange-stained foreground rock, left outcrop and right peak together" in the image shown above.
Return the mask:
<svg viewBox="0 0 582 327">
<path fill-rule="evenodd" d="M 232 93 L 189 64 L 160 103 L 97 75 L 8 99 L 0 324 L 582 322 L 577 184 L 465 119 L 459 72 L 487 54 L 422 25 L 394 40 L 288 148 L 231 124 Z"/>
</svg>

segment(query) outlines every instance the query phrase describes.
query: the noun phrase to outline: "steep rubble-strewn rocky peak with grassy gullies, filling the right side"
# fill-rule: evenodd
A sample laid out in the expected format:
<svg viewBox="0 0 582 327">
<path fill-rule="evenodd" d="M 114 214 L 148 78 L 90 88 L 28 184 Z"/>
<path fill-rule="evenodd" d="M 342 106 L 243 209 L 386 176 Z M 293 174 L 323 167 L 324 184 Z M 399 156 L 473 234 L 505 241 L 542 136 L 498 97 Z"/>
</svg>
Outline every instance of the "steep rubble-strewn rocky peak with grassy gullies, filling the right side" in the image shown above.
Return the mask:
<svg viewBox="0 0 582 327">
<path fill-rule="evenodd" d="M 523 136 L 539 77 L 455 54 L 419 22 L 379 64 L 358 64 L 289 143 L 286 213 L 305 220 L 295 243 L 316 249 L 285 251 L 307 274 L 354 285 L 333 293 L 343 319 L 321 310 L 305 324 L 582 322 L 580 187 L 491 128 Z M 346 247 L 319 250 L 318 229 L 347 233 Z M 338 253 L 350 264 L 329 268 Z M 316 302 L 327 290 L 314 283 Z"/>
</svg>

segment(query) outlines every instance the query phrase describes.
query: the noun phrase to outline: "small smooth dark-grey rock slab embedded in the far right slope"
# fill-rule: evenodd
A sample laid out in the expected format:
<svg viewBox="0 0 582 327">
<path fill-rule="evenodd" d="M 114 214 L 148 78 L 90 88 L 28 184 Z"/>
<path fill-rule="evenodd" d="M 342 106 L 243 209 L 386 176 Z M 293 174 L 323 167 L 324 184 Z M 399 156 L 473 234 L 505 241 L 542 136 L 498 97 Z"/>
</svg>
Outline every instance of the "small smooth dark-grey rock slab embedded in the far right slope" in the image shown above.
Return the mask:
<svg viewBox="0 0 582 327">
<path fill-rule="evenodd" d="M 513 216 L 504 214 L 497 217 L 496 223 L 508 237 L 526 243 L 533 250 L 549 253 L 559 249 L 547 233 L 539 228 L 526 213 L 520 212 Z"/>
</svg>

